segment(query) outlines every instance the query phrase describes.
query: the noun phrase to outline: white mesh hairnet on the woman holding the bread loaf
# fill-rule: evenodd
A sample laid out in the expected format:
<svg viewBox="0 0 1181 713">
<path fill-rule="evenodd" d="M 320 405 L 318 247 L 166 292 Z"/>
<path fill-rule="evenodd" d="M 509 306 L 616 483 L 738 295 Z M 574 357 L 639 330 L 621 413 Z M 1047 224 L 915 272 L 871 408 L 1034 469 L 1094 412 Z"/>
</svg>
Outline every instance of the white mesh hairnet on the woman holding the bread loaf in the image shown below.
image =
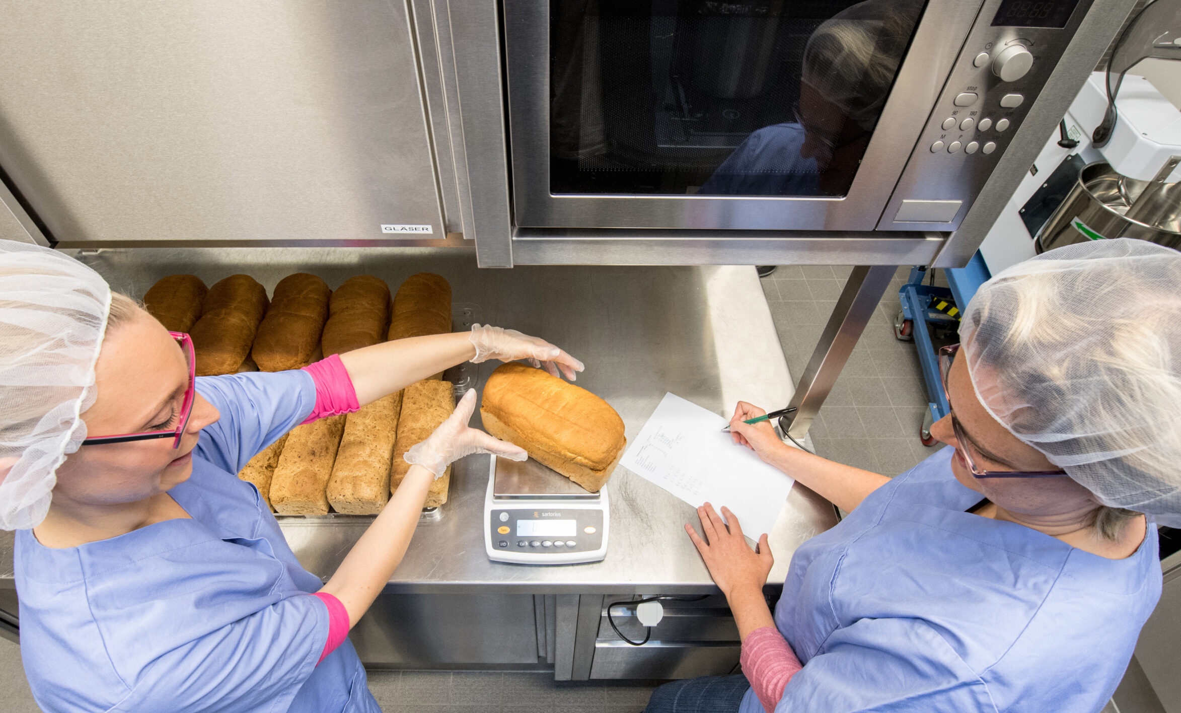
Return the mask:
<svg viewBox="0 0 1181 713">
<path fill-rule="evenodd" d="M 86 438 L 111 290 L 47 248 L 0 240 L 0 528 L 34 528 L 57 469 Z"/>
</svg>

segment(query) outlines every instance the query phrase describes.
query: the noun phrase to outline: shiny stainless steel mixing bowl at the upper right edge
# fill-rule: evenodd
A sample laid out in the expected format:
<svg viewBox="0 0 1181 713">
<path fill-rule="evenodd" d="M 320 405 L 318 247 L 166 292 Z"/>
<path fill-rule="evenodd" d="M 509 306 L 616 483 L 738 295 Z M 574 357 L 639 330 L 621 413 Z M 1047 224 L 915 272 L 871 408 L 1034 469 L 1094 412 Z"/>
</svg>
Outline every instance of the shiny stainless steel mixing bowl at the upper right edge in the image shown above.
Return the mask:
<svg viewBox="0 0 1181 713">
<path fill-rule="evenodd" d="M 1164 182 L 1179 163 L 1169 158 L 1153 181 L 1117 174 L 1103 161 L 1088 164 L 1038 234 L 1037 251 L 1105 237 L 1181 248 L 1181 183 Z"/>
</svg>

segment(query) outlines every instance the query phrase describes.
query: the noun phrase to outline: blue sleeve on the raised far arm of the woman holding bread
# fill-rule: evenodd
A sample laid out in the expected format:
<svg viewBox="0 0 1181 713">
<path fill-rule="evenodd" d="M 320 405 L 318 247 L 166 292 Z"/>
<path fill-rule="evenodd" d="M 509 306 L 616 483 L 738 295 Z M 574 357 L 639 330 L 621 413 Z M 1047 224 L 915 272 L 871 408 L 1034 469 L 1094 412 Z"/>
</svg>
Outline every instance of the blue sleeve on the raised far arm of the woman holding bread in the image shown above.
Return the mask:
<svg viewBox="0 0 1181 713">
<path fill-rule="evenodd" d="M 201 431 L 196 454 L 231 473 L 298 426 L 315 406 L 315 382 L 301 369 L 201 377 L 197 393 L 221 418 Z"/>
</svg>

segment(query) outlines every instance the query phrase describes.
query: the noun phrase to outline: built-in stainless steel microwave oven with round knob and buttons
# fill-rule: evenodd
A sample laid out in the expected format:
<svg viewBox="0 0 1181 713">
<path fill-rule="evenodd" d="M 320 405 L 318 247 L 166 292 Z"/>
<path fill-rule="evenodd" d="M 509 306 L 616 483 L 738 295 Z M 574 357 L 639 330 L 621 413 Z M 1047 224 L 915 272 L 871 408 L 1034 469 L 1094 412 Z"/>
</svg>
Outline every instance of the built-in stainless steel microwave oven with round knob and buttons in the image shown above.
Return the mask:
<svg viewBox="0 0 1181 713">
<path fill-rule="evenodd" d="M 1091 1 L 504 0 L 514 224 L 954 231 Z"/>
</svg>

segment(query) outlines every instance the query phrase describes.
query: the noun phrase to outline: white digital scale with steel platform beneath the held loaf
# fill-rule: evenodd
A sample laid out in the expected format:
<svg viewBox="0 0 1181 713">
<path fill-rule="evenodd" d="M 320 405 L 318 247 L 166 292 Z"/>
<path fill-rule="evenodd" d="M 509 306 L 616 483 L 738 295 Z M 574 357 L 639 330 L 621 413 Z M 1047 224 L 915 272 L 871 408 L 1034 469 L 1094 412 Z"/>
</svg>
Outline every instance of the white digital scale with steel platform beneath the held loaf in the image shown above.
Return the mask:
<svg viewBox="0 0 1181 713">
<path fill-rule="evenodd" d="M 589 492 L 533 458 L 492 456 L 484 550 L 494 562 L 574 564 L 607 555 L 607 486 Z"/>
</svg>

